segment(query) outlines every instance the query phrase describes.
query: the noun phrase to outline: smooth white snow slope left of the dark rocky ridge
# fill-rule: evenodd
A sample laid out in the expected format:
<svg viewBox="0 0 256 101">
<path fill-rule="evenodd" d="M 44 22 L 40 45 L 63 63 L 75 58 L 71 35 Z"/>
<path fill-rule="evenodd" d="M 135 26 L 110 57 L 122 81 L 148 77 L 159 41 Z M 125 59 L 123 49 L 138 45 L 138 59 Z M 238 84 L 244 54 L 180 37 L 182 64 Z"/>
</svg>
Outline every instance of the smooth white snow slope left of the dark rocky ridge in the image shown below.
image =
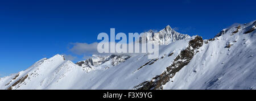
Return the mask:
<svg viewBox="0 0 256 101">
<path fill-rule="evenodd" d="M 2 78 L 0 89 L 8 89 L 20 78 L 28 75 L 22 83 L 13 86 L 12 89 L 133 89 L 141 81 L 146 81 L 154 75 L 161 73 L 179 53 L 181 46 L 186 47 L 188 40 L 176 41 L 168 47 L 160 47 L 163 61 L 155 61 L 155 64 L 144 66 L 148 60 L 146 54 L 130 57 L 122 64 L 110 66 L 111 62 L 105 62 L 92 70 L 87 71 L 82 66 L 64 60 L 63 56 L 56 56 L 36 62 L 30 69 Z M 181 48 L 180 48 L 181 47 Z M 167 54 L 174 52 L 170 57 Z M 134 61 L 135 60 L 135 61 Z M 162 64 L 162 67 L 159 67 Z M 106 68 L 110 66 L 110 68 Z M 8 82 L 11 83 L 6 85 Z M 6 85 L 6 86 L 5 86 Z"/>
</svg>

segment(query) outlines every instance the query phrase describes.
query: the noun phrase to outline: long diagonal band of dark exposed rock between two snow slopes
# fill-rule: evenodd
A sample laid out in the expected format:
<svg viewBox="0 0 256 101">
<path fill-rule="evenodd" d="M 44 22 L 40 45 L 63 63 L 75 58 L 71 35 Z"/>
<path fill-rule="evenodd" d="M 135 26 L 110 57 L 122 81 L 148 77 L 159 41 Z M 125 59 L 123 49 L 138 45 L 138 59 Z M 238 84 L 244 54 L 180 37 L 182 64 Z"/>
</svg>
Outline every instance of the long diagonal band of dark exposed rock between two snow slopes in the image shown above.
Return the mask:
<svg viewBox="0 0 256 101">
<path fill-rule="evenodd" d="M 195 39 L 189 41 L 189 46 L 187 49 L 181 50 L 180 54 L 174 59 L 171 66 L 168 66 L 166 70 L 160 74 L 156 75 L 151 81 L 145 81 L 134 87 L 138 90 L 158 90 L 163 89 L 163 85 L 170 81 L 170 78 L 181 70 L 185 65 L 187 65 L 194 56 L 194 50 L 198 49 L 203 45 L 203 38 L 196 36 Z M 185 61 L 183 61 L 185 60 Z"/>
</svg>

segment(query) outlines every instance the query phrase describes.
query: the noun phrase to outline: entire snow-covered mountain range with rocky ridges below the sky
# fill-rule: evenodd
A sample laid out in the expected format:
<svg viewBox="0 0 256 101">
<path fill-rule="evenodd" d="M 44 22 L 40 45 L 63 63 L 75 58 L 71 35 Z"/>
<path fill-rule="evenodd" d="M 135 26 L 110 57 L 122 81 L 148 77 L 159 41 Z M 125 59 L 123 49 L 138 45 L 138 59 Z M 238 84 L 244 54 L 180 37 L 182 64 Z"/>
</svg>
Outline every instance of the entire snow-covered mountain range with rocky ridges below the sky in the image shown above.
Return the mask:
<svg viewBox="0 0 256 101">
<path fill-rule="evenodd" d="M 213 39 L 159 32 L 159 57 L 112 54 L 74 64 L 57 54 L 0 78 L 0 89 L 256 89 L 256 20 Z"/>
</svg>

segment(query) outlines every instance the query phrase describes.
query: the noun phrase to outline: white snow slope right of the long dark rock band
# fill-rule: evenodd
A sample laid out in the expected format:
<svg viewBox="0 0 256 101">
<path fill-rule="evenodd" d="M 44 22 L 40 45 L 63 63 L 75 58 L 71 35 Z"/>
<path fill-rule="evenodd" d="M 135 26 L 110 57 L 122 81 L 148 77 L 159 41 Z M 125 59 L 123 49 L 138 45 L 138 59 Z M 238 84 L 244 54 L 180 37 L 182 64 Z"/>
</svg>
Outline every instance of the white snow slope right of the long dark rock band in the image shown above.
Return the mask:
<svg viewBox="0 0 256 101">
<path fill-rule="evenodd" d="M 256 32 L 246 33 L 255 24 L 225 29 L 208 41 L 164 89 L 256 89 Z"/>
</svg>

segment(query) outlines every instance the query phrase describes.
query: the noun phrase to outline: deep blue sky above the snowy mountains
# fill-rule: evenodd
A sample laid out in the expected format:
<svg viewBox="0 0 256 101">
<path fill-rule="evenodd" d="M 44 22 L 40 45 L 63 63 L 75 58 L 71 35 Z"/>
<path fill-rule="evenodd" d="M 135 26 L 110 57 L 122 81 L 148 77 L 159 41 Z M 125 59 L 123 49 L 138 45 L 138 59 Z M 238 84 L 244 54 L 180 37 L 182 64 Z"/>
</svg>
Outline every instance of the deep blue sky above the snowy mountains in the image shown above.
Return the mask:
<svg viewBox="0 0 256 101">
<path fill-rule="evenodd" d="M 241 1 L 0 1 L 0 77 L 43 57 L 82 60 L 74 43 L 94 43 L 100 32 L 161 30 L 212 38 L 233 23 L 256 18 L 256 2 Z"/>
</svg>

